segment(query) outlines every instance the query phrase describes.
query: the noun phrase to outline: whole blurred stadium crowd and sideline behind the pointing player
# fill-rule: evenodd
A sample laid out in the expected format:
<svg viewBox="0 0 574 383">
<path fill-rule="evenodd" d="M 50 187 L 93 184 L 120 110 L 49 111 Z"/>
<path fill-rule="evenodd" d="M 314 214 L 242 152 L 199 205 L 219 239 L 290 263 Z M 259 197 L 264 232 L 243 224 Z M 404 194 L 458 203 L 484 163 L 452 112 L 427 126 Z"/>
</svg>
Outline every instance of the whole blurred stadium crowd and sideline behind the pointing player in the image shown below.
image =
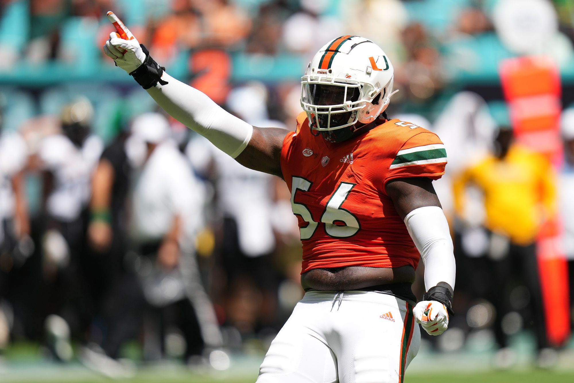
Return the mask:
<svg viewBox="0 0 574 383">
<path fill-rule="evenodd" d="M 574 382 L 571 0 L 0 0 L 0 381 L 253 382 L 302 296 L 284 183 L 150 114 L 108 10 L 257 126 L 327 41 L 379 44 L 449 156 L 457 315 L 406 381 Z"/>
</svg>

